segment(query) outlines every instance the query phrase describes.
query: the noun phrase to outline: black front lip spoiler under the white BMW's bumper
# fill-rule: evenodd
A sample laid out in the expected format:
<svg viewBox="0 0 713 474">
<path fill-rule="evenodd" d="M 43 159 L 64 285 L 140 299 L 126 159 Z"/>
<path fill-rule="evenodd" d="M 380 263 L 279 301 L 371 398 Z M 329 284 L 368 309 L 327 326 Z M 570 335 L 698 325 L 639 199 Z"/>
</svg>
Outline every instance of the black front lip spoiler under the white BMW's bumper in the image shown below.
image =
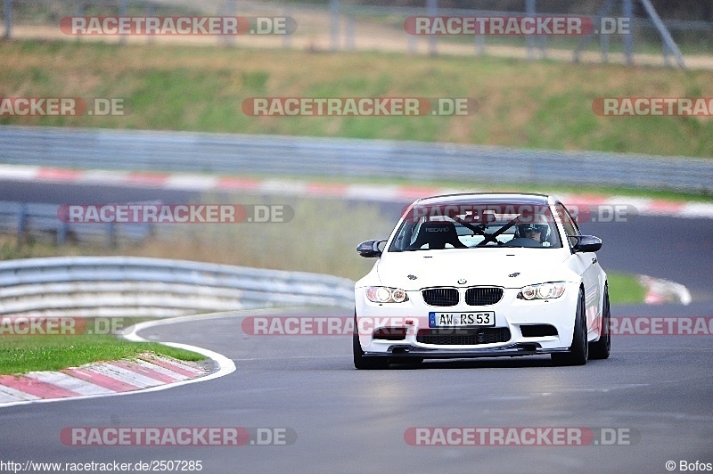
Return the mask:
<svg viewBox="0 0 713 474">
<path fill-rule="evenodd" d="M 541 354 L 563 354 L 570 349 L 543 349 L 537 343 L 518 343 L 504 347 L 469 348 L 469 349 L 436 349 L 416 347 L 410 344 L 395 344 L 389 347 L 389 352 L 367 352 L 365 357 L 397 357 L 399 359 L 468 359 L 475 357 L 515 357 L 537 356 Z"/>
</svg>

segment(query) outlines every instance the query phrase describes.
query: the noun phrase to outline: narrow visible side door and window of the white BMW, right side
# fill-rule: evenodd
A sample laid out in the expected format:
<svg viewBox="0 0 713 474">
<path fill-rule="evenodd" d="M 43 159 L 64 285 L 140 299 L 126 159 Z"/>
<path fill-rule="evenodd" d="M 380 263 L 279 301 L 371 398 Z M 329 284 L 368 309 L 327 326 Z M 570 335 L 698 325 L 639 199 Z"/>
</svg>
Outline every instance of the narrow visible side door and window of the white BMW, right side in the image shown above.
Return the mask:
<svg viewBox="0 0 713 474">
<path fill-rule="evenodd" d="M 571 217 L 570 211 L 565 208 L 561 202 L 555 206 L 557 214 L 561 219 L 564 232 L 567 233 L 567 241 L 570 249 L 572 249 L 573 239 L 570 237 L 580 235 L 577 222 Z M 600 301 L 602 300 L 602 290 L 599 282 L 599 263 L 596 253 L 594 252 L 574 252 L 571 250 L 572 258 L 575 259 L 579 267 L 579 272 L 582 275 L 582 280 L 585 287 L 585 307 L 586 307 L 586 323 L 590 331 L 598 329 L 598 315 L 600 315 Z"/>
</svg>

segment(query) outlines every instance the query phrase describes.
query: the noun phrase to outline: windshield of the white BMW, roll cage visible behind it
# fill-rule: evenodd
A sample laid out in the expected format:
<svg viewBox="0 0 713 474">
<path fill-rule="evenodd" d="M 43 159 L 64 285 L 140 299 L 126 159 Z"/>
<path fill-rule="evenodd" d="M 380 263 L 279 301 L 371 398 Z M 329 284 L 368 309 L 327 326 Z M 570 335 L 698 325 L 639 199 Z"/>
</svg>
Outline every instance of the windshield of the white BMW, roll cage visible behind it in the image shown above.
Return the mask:
<svg viewBox="0 0 713 474">
<path fill-rule="evenodd" d="M 415 206 L 401 222 L 389 251 L 493 247 L 561 248 L 549 206 L 482 202 Z"/>
</svg>

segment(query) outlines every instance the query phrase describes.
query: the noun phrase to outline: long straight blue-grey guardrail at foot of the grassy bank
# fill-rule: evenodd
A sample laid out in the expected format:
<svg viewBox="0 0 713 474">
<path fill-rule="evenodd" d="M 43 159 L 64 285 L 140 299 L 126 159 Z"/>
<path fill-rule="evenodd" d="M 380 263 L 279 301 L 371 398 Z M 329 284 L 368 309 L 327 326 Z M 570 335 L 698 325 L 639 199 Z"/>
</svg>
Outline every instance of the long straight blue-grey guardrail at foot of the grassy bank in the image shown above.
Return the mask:
<svg viewBox="0 0 713 474">
<path fill-rule="evenodd" d="M 711 159 L 283 135 L 0 127 L 0 163 L 713 192 Z"/>
</svg>

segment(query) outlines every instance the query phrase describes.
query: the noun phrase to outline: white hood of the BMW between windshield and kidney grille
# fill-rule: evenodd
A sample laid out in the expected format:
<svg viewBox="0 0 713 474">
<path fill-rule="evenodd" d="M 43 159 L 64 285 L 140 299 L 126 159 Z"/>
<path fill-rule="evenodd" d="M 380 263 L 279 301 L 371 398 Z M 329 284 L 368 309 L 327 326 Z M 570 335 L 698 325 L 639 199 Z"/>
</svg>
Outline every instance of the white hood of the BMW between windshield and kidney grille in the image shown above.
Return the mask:
<svg viewBox="0 0 713 474">
<path fill-rule="evenodd" d="M 561 281 L 566 271 L 560 264 L 568 256 L 569 252 L 558 249 L 389 252 L 381 257 L 377 273 L 381 284 L 404 290 L 479 285 L 520 288 L 534 283 Z M 459 283 L 459 280 L 465 282 Z"/>
</svg>

